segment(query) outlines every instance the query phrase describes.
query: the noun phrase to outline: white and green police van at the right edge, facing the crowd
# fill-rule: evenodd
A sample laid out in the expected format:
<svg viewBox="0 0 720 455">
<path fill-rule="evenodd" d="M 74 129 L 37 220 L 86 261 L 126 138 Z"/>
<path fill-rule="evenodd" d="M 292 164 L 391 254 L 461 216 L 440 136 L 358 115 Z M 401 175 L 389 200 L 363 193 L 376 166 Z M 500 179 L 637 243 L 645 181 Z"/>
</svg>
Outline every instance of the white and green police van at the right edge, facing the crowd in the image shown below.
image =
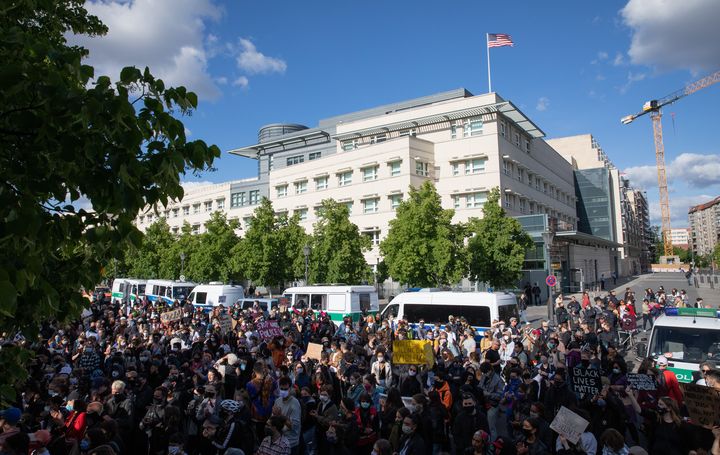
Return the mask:
<svg viewBox="0 0 720 455">
<path fill-rule="evenodd" d="M 643 340 L 644 341 L 644 340 Z M 653 324 L 650 343 L 637 353 L 657 360 L 665 356 L 668 370 L 680 382 L 699 379 L 700 363 L 720 363 L 720 311 L 713 308 L 665 308 Z"/>
</svg>

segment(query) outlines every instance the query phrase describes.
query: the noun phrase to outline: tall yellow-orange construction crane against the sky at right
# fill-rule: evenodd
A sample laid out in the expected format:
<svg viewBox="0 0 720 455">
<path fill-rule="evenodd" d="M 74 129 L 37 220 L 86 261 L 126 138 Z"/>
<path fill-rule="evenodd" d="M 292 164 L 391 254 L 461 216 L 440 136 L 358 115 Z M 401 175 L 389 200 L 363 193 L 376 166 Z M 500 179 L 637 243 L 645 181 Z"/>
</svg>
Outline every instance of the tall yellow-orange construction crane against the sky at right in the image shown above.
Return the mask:
<svg viewBox="0 0 720 455">
<path fill-rule="evenodd" d="M 665 256 L 673 255 L 672 240 L 670 239 L 670 198 L 667 190 L 667 174 L 665 171 L 665 145 L 662 139 L 662 111 L 668 104 L 672 104 L 680 98 L 686 97 L 700 89 L 709 87 L 720 82 L 720 71 L 706 76 L 698 81 L 685 86 L 685 88 L 671 93 L 659 100 L 651 100 L 643 105 L 643 110 L 634 115 L 628 115 L 620 119 L 623 125 L 632 123 L 638 117 L 650 114 L 653 122 L 653 138 L 655 139 L 655 161 L 658 168 L 658 188 L 660 189 L 660 212 L 662 214 L 662 236 Z"/>
</svg>

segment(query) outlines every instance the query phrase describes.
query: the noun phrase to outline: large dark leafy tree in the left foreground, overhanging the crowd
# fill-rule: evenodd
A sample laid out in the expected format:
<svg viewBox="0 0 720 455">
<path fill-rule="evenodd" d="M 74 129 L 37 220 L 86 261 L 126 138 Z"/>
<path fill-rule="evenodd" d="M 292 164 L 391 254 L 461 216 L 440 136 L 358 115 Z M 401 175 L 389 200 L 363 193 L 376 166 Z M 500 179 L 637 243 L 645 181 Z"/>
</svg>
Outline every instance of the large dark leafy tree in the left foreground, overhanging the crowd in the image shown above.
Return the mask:
<svg viewBox="0 0 720 455">
<path fill-rule="evenodd" d="M 140 244 L 139 210 L 182 198 L 180 175 L 220 156 L 188 141 L 177 118 L 196 108 L 194 93 L 165 87 L 148 69 L 93 80 L 87 50 L 65 39 L 107 31 L 84 3 L 0 8 L 0 332 L 28 339 L 41 321 L 76 317 L 87 302 L 80 287 Z M 2 398 L 15 398 L 27 358 L 0 350 Z"/>
</svg>

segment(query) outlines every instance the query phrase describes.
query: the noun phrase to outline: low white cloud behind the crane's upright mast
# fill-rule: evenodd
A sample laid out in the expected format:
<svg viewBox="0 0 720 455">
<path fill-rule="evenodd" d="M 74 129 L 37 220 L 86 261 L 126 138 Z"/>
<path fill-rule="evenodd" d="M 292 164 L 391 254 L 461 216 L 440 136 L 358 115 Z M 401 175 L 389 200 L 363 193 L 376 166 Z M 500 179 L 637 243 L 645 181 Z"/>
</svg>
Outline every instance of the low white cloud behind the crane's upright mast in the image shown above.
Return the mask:
<svg viewBox="0 0 720 455">
<path fill-rule="evenodd" d="M 682 153 L 665 168 L 668 184 L 682 183 L 691 188 L 720 185 L 720 155 Z M 654 165 L 633 166 L 623 172 L 633 186 L 648 190 L 657 188 L 657 168 Z"/>
</svg>

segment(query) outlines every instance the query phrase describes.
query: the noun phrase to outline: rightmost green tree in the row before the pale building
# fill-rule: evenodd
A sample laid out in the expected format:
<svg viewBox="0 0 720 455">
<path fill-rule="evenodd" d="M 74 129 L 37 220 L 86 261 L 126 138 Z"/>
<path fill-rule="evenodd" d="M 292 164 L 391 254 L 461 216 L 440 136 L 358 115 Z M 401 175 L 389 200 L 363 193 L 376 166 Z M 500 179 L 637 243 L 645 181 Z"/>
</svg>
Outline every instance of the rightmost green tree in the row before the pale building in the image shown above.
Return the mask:
<svg viewBox="0 0 720 455">
<path fill-rule="evenodd" d="M 483 217 L 468 221 L 467 245 L 470 278 L 496 289 L 515 286 L 522 275 L 525 252 L 534 246 L 520 222 L 508 217 L 499 201 L 500 190 L 495 187 L 483 206 Z"/>
</svg>

